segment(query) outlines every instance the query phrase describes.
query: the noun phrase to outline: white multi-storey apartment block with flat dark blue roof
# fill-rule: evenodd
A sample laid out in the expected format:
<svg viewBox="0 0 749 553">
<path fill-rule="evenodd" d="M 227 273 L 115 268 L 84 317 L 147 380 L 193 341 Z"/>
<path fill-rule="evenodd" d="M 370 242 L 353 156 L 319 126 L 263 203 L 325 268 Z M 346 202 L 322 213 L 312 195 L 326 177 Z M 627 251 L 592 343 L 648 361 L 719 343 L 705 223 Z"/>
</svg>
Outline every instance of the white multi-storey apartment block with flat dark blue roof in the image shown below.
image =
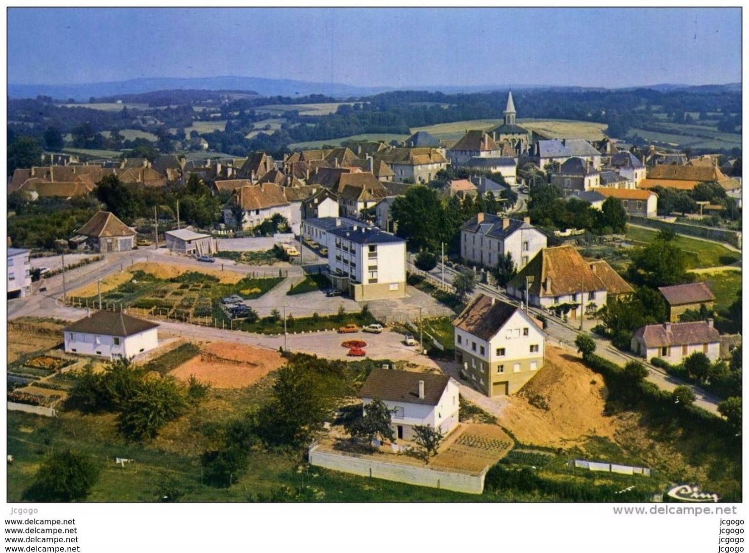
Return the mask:
<svg viewBox="0 0 749 553">
<path fill-rule="evenodd" d="M 361 223 L 327 231 L 330 280 L 356 301 L 406 295 L 406 241 Z"/>
</svg>

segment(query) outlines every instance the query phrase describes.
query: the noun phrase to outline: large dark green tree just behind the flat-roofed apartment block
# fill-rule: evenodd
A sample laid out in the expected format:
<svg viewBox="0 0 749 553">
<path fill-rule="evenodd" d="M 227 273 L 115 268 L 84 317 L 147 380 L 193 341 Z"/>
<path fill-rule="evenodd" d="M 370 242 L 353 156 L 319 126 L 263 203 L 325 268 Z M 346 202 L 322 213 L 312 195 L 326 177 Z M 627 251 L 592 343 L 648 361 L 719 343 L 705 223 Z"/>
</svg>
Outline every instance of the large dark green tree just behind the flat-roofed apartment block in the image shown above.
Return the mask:
<svg viewBox="0 0 749 553">
<path fill-rule="evenodd" d="M 396 234 L 408 241 L 408 247 L 436 249 L 440 240 L 442 203 L 437 190 L 425 186 L 410 187 L 404 196 L 392 202 L 390 213 Z"/>
</svg>

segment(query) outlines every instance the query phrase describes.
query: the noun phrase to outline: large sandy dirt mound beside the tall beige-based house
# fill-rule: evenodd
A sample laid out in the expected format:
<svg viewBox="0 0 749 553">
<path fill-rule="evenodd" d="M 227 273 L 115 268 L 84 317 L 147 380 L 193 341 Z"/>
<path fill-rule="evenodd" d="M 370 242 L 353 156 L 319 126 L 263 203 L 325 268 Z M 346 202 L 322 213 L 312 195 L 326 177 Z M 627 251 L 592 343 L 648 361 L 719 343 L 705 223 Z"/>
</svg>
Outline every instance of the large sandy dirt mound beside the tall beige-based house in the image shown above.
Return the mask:
<svg viewBox="0 0 749 553">
<path fill-rule="evenodd" d="M 571 351 L 546 346 L 539 373 L 508 398 L 500 424 L 526 444 L 570 447 L 587 436 L 613 438 L 611 417 L 604 417 L 606 387 L 600 375 Z"/>
</svg>

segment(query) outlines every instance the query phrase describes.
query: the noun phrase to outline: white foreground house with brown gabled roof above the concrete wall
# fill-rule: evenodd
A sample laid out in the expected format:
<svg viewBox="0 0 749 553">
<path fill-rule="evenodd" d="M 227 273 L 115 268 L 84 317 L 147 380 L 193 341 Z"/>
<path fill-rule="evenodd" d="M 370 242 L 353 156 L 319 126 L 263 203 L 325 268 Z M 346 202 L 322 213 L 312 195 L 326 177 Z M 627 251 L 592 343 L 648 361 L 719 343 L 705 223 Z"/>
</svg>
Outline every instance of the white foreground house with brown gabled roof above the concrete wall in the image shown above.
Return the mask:
<svg viewBox="0 0 749 553">
<path fill-rule="evenodd" d="M 443 435 L 458 426 L 458 383 L 447 375 L 372 369 L 359 397 L 363 405 L 375 399 L 387 405 L 398 440 L 412 440 L 414 426 L 431 426 Z"/>
</svg>

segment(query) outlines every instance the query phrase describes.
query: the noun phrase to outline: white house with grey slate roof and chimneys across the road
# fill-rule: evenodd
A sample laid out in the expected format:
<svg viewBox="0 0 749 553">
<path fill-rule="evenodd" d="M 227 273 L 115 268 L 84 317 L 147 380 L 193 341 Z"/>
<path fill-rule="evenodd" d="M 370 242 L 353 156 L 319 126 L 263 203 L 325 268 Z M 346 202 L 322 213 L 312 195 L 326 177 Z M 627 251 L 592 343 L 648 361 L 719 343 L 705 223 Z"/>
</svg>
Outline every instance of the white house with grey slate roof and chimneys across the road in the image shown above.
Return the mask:
<svg viewBox="0 0 749 553">
<path fill-rule="evenodd" d="M 464 262 L 494 268 L 507 253 L 523 268 L 546 247 L 546 235 L 524 220 L 479 213 L 461 226 L 461 258 Z"/>
</svg>

